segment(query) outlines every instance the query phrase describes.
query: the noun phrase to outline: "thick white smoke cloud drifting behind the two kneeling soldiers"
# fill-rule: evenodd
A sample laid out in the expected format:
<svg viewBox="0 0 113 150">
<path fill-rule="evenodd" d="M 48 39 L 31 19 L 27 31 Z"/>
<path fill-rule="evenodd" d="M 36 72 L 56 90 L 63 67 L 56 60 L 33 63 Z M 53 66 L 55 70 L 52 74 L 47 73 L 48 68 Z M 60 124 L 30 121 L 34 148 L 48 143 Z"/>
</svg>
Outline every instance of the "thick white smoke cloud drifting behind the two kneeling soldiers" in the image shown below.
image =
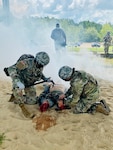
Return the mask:
<svg viewBox="0 0 113 150">
<path fill-rule="evenodd" d="M 41 26 L 34 27 L 29 23 L 24 24 L 20 20 L 15 20 L 7 26 L 1 22 L 0 74 L 5 75 L 3 68 L 13 65 L 22 54 L 35 56 L 37 52 L 45 51 L 50 56 L 50 63 L 44 68 L 44 74 L 55 82 L 64 83 L 58 77 L 58 70 L 64 65 L 75 67 L 76 70 L 87 71 L 101 79 L 113 81 L 112 66 L 106 65 L 103 59 L 88 52 L 85 48 L 75 53 L 69 52 L 67 47 L 66 52 L 58 55 L 54 49 L 54 42 L 50 38 L 52 29 L 51 25 L 48 29 L 44 29 Z"/>
</svg>

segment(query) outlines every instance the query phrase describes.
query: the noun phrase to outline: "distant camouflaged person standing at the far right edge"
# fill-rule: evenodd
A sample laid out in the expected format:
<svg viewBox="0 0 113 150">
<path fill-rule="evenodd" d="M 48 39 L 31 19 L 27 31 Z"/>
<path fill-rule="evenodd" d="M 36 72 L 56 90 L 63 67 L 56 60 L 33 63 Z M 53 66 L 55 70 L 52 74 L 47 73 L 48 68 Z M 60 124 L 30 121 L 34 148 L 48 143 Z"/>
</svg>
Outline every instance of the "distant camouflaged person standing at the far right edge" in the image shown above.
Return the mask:
<svg viewBox="0 0 113 150">
<path fill-rule="evenodd" d="M 110 36 L 110 32 L 107 32 L 107 34 L 104 37 L 104 52 L 105 55 L 108 55 L 109 52 L 109 46 L 111 45 L 112 37 Z"/>
</svg>

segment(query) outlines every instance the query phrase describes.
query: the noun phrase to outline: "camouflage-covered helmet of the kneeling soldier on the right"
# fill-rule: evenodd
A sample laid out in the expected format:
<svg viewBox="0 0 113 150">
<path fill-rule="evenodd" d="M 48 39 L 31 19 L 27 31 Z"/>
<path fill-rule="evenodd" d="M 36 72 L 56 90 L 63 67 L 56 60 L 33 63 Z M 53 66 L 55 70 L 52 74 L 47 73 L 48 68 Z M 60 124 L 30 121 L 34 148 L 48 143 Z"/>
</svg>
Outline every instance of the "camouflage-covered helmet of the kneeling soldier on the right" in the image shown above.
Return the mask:
<svg viewBox="0 0 113 150">
<path fill-rule="evenodd" d="M 69 79 L 73 73 L 73 69 L 69 66 L 63 66 L 59 70 L 59 77 L 63 80 Z"/>
</svg>

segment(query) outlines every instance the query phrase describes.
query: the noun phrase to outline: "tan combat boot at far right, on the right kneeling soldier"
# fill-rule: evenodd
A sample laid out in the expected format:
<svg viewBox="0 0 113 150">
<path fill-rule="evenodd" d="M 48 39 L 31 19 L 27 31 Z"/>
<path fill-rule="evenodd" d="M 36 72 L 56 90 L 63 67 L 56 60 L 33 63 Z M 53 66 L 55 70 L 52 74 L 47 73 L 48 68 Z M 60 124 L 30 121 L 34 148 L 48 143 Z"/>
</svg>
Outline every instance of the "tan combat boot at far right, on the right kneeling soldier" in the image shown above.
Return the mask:
<svg viewBox="0 0 113 150">
<path fill-rule="evenodd" d="M 110 108 L 105 102 L 105 100 L 101 100 L 100 102 L 96 103 L 96 111 L 103 113 L 104 115 L 109 115 Z"/>
</svg>

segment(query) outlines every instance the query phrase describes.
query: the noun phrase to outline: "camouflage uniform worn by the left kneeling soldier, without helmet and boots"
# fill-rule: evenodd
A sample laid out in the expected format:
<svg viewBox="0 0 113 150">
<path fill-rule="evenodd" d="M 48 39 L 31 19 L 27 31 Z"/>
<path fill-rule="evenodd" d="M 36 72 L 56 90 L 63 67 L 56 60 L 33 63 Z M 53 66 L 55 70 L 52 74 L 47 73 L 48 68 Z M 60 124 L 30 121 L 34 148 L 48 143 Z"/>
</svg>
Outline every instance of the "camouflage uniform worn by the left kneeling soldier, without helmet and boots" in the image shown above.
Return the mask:
<svg viewBox="0 0 113 150">
<path fill-rule="evenodd" d="M 13 83 L 12 91 L 17 103 L 37 103 L 36 89 L 31 85 L 33 85 L 34 82 L 45 78 L 42 71 L 43 67 L 37 68 L 34 58 L 18 60 L 16 64 L 8 67 L 8 73 L 12 78 Z M 25 86 L 25 97 L 23 96 L 22 90 L 17 86 L 17 82 L 19 81 Z"/>
</svg>

